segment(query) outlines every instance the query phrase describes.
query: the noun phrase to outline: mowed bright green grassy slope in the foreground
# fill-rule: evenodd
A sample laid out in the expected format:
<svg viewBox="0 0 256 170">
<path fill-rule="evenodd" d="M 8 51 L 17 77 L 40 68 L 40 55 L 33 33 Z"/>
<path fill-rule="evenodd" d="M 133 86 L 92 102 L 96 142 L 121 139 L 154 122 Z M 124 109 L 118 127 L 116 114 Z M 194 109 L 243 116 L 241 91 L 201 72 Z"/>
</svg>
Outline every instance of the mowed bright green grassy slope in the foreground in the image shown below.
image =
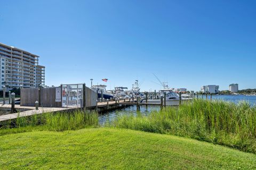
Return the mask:
<svg viewBox="0 0 256 170">
<path fill-rule="evenodd" d="M 253 169 L 256 155 L 193 139 L 121 129 L 0 136 L 3 169 Z"/>
</svg>

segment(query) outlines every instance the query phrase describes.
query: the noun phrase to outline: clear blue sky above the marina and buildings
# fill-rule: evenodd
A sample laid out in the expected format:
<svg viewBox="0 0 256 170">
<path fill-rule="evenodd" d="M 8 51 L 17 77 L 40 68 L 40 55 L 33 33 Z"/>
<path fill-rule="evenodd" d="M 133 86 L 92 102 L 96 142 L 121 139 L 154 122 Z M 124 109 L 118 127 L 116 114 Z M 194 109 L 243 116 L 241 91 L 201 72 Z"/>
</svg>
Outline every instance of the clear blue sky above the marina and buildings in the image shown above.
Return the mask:
<svg viewBox="0 0 256 170">
<path fill-rule="evenodd" d="M 39 55 L 46 85 L 256 88 L 256 1 L 5 1 L 0 42 Z M 154 81 L 154 82 L 152 82 Z"/>
</svg>

